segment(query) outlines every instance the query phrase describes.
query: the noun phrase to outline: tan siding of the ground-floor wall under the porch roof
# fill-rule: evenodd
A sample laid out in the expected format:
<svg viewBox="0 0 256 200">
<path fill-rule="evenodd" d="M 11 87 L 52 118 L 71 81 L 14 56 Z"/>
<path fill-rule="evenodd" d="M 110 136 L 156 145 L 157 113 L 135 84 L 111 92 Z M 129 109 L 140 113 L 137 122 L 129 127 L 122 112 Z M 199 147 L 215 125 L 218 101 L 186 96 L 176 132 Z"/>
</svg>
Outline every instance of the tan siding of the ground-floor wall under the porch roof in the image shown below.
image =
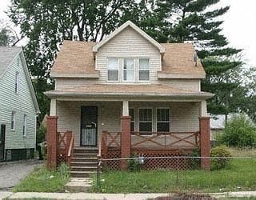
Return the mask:
<svg viewBox="0 0 256 200">
<path fill-rule="evenodd" d="M 121 130 L 122 102 L 57 102 L 58 130 L 71 130 L 75 135 L 75 146 L 80 146 L 81 106 L 98 106 L 98 137 L 102 130 Z M 153 131 L 156 131 L 156 109 L 170 108 L 170 131 L 198 131 L 198 104 L 190 102 L 130 102 L 135 109 L 135 130 L 138 130 L 138 109 L 152 108 L 154 113 Z"/>
</svg>

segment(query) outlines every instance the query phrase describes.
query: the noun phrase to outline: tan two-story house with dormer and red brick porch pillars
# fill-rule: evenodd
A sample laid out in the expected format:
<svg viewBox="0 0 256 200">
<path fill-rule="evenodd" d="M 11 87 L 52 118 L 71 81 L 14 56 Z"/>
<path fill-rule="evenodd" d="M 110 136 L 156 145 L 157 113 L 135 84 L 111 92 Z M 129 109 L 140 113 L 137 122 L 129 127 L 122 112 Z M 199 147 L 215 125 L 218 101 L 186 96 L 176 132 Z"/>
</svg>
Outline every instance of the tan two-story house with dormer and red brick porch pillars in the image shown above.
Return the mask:
<svg viewBox="0 0 256 200">
<path fill-rule="evenodd" d="M 191 44 L 160 44 L 128 21 L 101 42 L 64 41 L 50 74 L 50 166 L 71 159 L 71 170 L 81 170 L 72 160 L 80 162 L 93 150 L 103 158 L 171 156 L 198 148 L 210 155 L 206 99 L 213 94 L 201 91 L 206 74 Z M 67 150 L 73 142 L 72 156 Z M 202 167 L 209 168 L 209 159 Z"/>
</svg>

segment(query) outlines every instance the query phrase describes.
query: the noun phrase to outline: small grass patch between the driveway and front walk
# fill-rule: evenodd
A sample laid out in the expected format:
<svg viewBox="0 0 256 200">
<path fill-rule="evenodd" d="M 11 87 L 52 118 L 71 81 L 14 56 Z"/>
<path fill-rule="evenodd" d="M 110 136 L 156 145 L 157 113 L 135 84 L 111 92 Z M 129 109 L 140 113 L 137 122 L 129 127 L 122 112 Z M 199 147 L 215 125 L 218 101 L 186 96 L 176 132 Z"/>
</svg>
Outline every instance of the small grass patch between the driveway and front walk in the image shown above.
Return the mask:
<svg viewBox="0 0 256 200">
<path fill-rule="evenodd" d="M 69 181 L 67 167 L 62 165 L 58 170 L 47 170 L 45 166 L 34 170 L 23 179 L 14 192 L 62 192 L 66 182 Z"/>
</svg>

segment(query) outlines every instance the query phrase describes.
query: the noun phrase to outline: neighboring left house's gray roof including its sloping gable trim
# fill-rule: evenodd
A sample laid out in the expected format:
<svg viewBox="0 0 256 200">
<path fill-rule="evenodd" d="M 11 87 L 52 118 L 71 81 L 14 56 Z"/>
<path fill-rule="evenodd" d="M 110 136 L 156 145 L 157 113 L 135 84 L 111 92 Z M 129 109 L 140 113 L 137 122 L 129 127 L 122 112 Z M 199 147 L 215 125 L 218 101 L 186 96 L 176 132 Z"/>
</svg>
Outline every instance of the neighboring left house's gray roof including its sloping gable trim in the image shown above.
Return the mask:
<svg viewBox="0 0 256 200">
<path fill-rule="evenodd" d="M 37 114 L 40 114 L 37 98 L 34 94 L 34 87 L 31 82 L 30 73 L 26 66 L 26 59 L 22 51 L 22 47 L 18 46 L 0 46 L 0 78 L 5 74 L 9 66 L 14 62 L 14 59 L 21 56 L 22 67 L 24 74 L 26 76 L 26 81 L 28 82 L 30 94 L 34 102 L 34 108 Z"/>
</svg>

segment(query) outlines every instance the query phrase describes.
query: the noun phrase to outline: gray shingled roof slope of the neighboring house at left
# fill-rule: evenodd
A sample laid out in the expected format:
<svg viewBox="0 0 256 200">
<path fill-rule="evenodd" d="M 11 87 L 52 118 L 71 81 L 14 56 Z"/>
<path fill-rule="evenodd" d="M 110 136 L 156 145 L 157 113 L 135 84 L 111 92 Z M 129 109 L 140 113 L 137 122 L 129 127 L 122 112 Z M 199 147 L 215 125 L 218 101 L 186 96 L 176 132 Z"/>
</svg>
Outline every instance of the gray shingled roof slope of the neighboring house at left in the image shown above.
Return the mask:
<svg viewBox="0 0 256 200">
<path fill-rule="evenodd" d="M 0 77 L 14 60 L 14 57 L 21 51 L 22 47 L 18 46 L 0 46 Z"/>
</svg>

